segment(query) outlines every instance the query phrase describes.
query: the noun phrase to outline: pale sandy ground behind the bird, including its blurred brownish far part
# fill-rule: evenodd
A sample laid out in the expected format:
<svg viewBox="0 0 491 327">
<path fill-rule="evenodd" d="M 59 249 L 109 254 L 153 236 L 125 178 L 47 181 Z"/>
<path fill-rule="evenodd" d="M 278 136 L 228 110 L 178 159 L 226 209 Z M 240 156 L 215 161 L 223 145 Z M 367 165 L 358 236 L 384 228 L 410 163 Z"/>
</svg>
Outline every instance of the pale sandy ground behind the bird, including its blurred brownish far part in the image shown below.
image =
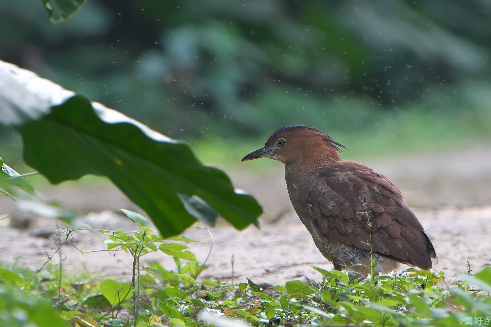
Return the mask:
<svg viewBox="0 0 491 327">
<path fill-rule="evenodd" d="M 473 271 L 491 265 L 490 148 L 360 161 L 391 178 L 402 190 L 435 246 L 438 260 L 434 269 L 444 271 L 449 280 L 455 280 L 467 274 L 467 260 Z M 229 174 L 237 187 L 258 198 L 265 214 L 260 229 L 251 226 L 237 231 L 227 224 L 211 228 L 213 250 L 207 261 L 210 268 L 203 272 L 203 278 L 231 279 L 232 255 L 237 281 L 249 277 L 257 283 L 277 284 L 301 275 L 319 278 L 320 275 L 307 265 L 331 269 L 332 265 L 318 252 L 293 212 L 280 165 L 263 176 L 237 169 Z M 98 212 L 83 215 L 80 220 L 83 224 L 134 230 L 133 224 L 114 211 L 120 207 L 136 208 L 112 186 L 88 189 L 64 183 L 38 193 L 45 201 L 60 201 L 69 208 Z M 54 252 L 55 245 L 52 238 L 34 234 L 44 229 L 55 230 L 55 222 L 35 218 L 27 229 L 12 228 L 8 215 L 15 210 L 13 201 L 0 200 L 0 215 L 3 214 L 0 216 L 0 261 L 35 270 L 46 260 L 45 251 Z M 202 262 L 212 245 L 207 231 L 193 226 L 184 235 L 202 241 L 188 244 Z M 83 251 L 105 249 L 101 243 L 103 237 L 86 231 L 74 235 L 77 247 Z M 116 258 L 113 254 L 82 255 L 75 248 L 65 246 L 63 265 L 73 273 L 88 270 L 118 279 L 129 278 L 130 270 L 119 260 L 131 265 L 131 258 L 124 252 L 117 252 Z M 144 258 L 159 260 L 168 268 L 174 265 L 164 254 L 149 254 Z M 53 260 L 56 262 L 59 257 L 56 255 Z"/>
</svg>

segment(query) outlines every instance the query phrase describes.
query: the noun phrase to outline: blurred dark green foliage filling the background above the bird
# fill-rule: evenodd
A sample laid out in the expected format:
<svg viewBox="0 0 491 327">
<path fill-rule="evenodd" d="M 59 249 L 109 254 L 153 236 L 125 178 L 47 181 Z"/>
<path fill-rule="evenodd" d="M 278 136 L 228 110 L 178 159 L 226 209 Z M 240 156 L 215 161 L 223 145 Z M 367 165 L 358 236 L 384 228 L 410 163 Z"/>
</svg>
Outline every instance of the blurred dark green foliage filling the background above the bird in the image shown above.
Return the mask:
<svg viewBox="0 0 491 327">
<path fill-rule="evenodd" d="M 487 0 L 89 0 L 61 24 L 44 10 L 2 4 L 1 59 L 174 138 L 350 134 L 406 109 L 490 121 Z"/>
</svg>

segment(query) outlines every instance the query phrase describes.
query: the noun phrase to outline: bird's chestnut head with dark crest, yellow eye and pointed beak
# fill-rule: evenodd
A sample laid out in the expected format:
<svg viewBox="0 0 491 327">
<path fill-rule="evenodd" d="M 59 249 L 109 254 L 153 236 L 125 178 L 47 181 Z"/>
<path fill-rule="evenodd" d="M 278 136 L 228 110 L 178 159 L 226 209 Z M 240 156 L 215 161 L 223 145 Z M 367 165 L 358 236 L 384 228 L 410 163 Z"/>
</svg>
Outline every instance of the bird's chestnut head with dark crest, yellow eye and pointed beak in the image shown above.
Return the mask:
<svg viewBox="0 0 491 327">
<path fill-rule="evenodd" d="M 326 133 L 307 125 L 286 126 L 275 131 L 261 149 L 247 154 L 242 161 L 262 157 L 281 161 L 284 164 L 304 160 L 319 162 L 340 160 L 337 151 L 345 146 L 335 142 Z"/>
</svg>

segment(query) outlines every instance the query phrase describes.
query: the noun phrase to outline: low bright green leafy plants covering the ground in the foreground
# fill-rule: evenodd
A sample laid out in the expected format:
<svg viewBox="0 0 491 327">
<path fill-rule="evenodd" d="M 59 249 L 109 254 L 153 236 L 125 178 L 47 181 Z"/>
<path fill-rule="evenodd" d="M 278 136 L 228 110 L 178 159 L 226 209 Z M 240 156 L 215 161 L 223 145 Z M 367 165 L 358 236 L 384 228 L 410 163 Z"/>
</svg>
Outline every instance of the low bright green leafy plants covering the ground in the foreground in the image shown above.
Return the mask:
<svg viewBox="0 0 491 327">
<path fill-rule="evenodd" d="M 136 231 L 100 232 L 108 235 L 105 251 L 134 257 L 130 280 L 65 276 L 53 264 L 37 275 L 0 267 L 0 325 L 63 326 L 60 321 L 65 321 L 72 327 L 220 327 L 232 326 L 227 319 L 234 318 L 244 323 L 237 326 L 419 327 L 462 326 L 469 319 L 485 322 L 491 317 L 491 267 L 450 285 L 443 272 L 409 268 L 375 277 L 373 285 L 315 266 L 319 281 L 306 278 L 272 286 L 250 279 L 239 284 L 199 280 L 207 267 L 187 250 L 191 239 L 164 240 L 147 227 L 144 217 L 125 213 Z M 66 230 L 66 240 L 75 231 Z M 58 249 L 71 245 L 58 244 Z M 159 262 L 140 266 L 142 255 L 158 251 L 173 257 L 175 270 L 165 270 Z"/>
</svg>

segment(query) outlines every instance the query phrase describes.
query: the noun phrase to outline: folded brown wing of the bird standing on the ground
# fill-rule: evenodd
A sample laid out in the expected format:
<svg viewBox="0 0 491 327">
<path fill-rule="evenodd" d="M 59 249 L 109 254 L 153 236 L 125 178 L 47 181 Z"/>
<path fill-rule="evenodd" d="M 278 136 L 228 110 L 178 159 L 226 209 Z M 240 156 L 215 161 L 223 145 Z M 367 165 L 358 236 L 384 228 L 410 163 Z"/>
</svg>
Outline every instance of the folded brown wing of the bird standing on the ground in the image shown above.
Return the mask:
<svg viewBox="0 0 491 327">
<path fill-rule="evenodd" d="M 355 161 L 323 168 L 309 192 L 311 218 L 330 243 L 370 250 L 422 269 L 435 250 L 423 227 L 385 176 Z"/>
</svg>

